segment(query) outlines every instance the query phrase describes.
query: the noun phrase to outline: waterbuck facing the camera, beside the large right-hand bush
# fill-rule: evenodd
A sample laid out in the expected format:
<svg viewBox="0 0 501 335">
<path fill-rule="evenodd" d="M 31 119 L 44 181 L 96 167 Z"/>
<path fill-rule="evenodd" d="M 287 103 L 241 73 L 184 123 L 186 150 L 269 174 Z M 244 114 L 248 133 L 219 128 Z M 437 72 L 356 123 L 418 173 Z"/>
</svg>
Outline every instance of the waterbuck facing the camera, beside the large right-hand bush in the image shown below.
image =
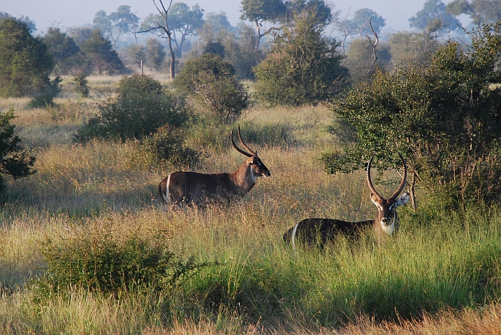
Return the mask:
<svg viewBox="0 0 501 335">
<path fill-rule="evenodd" d="M 384 199 L 377 193 L 370 179 L 370 165 L 372 164 L 374 155 L 372 155 L 367 165 L 366 179 L 370 189 L 370 200 L 374 202 L 377 208 L 377 214 L 374 220 L 349 222 L 331 218 L 305 218 L 303 221 L 294 225 L 293 228 L 287 230 L 284 234 L 284 241 L 287 244 L 291 244 L 294 249 L 298 241 L 309 246 L 317 245 L 322 247 L 328 241 L 332 241 L 336 234 L 345 234 L 347 237 L 353 237 L 370 225 L 374 228 L 378 242 L 381 241 L 382 237 L 396 232 L 400 226 L 400 220 L 396 209 L 398 206 L 407 204 L 409 201 L 409 195 L 407 193 L 397 198 L 398 194 L 404 189 L 407 179 L 407 165 L 400 153 L 398 156 L 402 159 L 404 174 L 402 175 L 402 181 L 400 181 L 397 191 L 388 199 Z"/>
</svg>

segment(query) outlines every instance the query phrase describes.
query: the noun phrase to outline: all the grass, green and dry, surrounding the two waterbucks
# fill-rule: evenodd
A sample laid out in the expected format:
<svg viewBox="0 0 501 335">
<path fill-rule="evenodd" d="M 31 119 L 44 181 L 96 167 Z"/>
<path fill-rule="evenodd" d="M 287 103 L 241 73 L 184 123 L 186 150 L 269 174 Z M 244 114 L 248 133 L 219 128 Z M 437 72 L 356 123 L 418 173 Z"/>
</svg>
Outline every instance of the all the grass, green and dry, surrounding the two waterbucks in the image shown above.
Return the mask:
<svg viewBox="0 0 501 335">
<path fill-rule="evenodd" d="M 38 172 L 8 180 L 2 197 L 1 334 L 384 334 L 430 318 L 446 333 L 457 324 L 485 333 L 479 326 L 489 324 L 484 315 L 501 319 L 497 207 L 445 211 L 419 191 L 419 211 L 400 207 L 401 230 L 382 246 L 370 231 L 354 244 L 339 238 L 324 251 L 284 246 L 282 234 L 302 218 L 375 215 L 364 172 L 328 175 L 318 161 L 322 152 L 340 149 L 325 131 L 331 114 L 324 107 L 247 114 L 242 137 L 259 151 L 271 177 L 232 204 L 169 211 L 157 186 L 170 171 L 131 168 L 128 143 L 73 142 L 93 110 L 91 99 L 72 99 L 57 100 L 61 107 L 52 111 L 23 110 L 27 101 L 15 99 L 0 103 L 16 106 L 16 123 L 38 152 Z M 229 146 L 229 128 L 193 129 L 188 142 L 205 149 L 198 171 L 233 171 L 242 163 L 245 157 Z M 203 134 L 226 143 L 211 147 Z M 393 193 L 398 174 L 383 180 L 377 190 Z M 44 242 L 62 247 L 90 232 L 117 243 L 131 235 L 153 242 L 161 234 L 180 258 L 214 265 L 168 290 L 110 295 L 75 285 L 39 299 L 32 283 L 49 265 Z M 422 334 L 433 334 L 436 326 L 422 327 L 429 332 Z"/>
</svg>

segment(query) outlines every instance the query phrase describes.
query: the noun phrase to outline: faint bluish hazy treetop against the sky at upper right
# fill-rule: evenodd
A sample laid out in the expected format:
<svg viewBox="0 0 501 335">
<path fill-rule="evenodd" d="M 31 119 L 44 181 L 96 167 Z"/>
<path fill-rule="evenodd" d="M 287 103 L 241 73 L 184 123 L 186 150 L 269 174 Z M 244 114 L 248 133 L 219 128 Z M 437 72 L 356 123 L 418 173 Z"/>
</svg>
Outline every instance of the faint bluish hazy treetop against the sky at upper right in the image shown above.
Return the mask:
<svg viewBox="0 0 501 335">
<path fill-rule="evenodd" d="M 460 22 L 446 12 L 442 1 L 428 0 L 424 3 L 423 9 L 409 19 L 409 26 L 421 30 L 426 29 L 433 33 L 456 30 L 460 27 Z"/>
</svg>

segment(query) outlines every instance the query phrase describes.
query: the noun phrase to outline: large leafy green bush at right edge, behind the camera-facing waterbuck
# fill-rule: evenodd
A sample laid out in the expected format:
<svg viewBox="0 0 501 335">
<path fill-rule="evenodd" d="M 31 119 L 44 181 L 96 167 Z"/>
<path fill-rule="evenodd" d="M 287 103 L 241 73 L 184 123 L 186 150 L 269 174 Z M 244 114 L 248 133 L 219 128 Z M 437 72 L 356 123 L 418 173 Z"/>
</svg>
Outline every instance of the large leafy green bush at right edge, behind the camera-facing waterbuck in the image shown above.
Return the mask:
<svg viewBox="0 0 501 335">
<path fill-rule="evenodd" d="M 356 127 L 358 142 L 324 156 L 326 170 L 349 172 L 388 151 L 384 161 L 398 166 L 398 151 L 414 179 L 451 191 L 456 206 L 500 200 L 501 91 L 491 84 L 501 80 L 501 24 L 468 34 L 464 49 L 449 40 L 425 66 L 379 71 L 370 84 L 334 99 L 331 109 Z"/>
</svg>

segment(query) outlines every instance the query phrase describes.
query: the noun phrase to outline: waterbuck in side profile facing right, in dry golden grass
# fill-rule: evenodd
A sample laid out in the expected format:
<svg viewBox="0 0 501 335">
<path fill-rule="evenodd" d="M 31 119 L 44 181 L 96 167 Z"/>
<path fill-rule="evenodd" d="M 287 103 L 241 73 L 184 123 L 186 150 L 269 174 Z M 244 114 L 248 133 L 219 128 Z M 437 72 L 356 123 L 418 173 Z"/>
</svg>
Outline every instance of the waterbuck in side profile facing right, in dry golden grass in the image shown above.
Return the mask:
<svg viewBox="0 0 501 335">
<path fill-rule="evenodd" d="M 231 200 L 242 197 L 256 185 L 257 177 L 270 177 L 271 173 L 263 164 L 256 151 L 252 151 L 242 140 L 240 126 L 238 139 L 243 151 L 233 142 L 233 130 L 230 134 L 231 144 L 240 154 L 247 158 L 235 172 L 204 174 L 198 172 L 173 172 L 159 184 L 159 193 L 166 204 L 202 204 L 208 200 Z"/>
</svg>

